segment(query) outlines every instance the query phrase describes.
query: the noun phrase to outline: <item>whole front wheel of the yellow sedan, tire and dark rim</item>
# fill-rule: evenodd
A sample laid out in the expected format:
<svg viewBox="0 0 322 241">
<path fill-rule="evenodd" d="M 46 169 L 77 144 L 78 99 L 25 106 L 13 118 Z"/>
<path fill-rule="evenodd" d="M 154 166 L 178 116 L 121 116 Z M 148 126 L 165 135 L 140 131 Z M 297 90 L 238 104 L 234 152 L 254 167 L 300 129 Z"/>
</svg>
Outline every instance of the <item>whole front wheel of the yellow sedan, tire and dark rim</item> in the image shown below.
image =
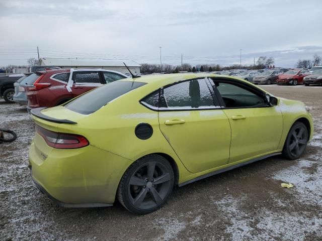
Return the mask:
<svg viewBox="0 0 322 241">
<path fill-rule="evenodd" d="M 283 156 L 289 160 L 299 158 L 307 145 L 308 131 L 306 126 L 301 122 L 295 122 L 291 127 L 283 148 Z"/>
</svg>

